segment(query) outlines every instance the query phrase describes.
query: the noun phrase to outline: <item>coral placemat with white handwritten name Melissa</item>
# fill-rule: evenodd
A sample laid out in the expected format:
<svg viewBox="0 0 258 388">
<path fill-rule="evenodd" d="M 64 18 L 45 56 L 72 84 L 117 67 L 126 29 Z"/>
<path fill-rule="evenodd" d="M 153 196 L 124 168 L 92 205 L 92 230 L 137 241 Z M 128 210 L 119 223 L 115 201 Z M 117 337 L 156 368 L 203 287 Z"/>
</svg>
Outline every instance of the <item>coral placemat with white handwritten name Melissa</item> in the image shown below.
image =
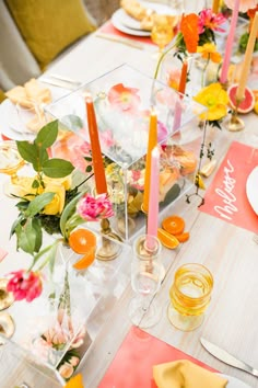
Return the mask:
<svg viewBox="0 0 258 388">
<path fill-rule="evenodd" d="M 199 209 L 226 222 L 258 232 L 258 216 L 246 195 L 246 181 L 256 166 L 258 149 L 233 141 L 206 193 L 204 205 Z"/>
</svg>

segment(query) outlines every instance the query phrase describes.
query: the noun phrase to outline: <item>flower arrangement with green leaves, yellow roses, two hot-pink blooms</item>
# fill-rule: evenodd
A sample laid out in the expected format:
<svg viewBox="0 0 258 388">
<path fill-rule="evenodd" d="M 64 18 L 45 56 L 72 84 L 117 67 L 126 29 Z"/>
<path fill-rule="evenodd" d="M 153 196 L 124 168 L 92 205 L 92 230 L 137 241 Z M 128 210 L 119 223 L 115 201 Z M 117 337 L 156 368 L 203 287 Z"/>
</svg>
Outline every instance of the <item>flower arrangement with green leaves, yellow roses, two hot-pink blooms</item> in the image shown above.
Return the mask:
<svg viewBox="0 0 258 388">
<path fill-rule="evenodd" d="M 50 271 L 54 270 L 60 241 L 69 244 L 69 237 L 79 225 L 114 214 L 106 194 L 94 197 L 89 189 L 80 191 L 92 175 L 71 189 L 74 167 L 67 160 L 49 157 L 48 149 L 57 136 L 58 122 L 55 121 L 39 130 L 33 144 L 16 141 L 22 158 L 36 172 L 20 187 L 20 202 L 16 204 L 20 213 L 11 229 L 11 236 L 16 237 L 17 250 L 32 256 L 27 270 L 12 272 L 9 276 L 8 290 L 14 293 L 16 300 L 32 301 L 42 294 L 42 270 L 48 263 Z M 43 230 L 57 236 L 51 244 L 44 248 Z"/>
</svg>

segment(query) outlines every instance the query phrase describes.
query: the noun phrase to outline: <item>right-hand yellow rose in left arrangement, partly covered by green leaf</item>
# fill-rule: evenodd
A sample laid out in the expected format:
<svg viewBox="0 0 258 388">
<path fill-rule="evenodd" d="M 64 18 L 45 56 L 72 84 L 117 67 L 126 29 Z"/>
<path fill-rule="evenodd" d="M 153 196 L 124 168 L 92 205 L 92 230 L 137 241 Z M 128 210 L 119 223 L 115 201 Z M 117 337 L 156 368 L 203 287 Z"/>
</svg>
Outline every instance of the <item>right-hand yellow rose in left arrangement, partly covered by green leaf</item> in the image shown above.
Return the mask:
<svg viewBox="0 0 258 388">
<path fill-rule="evenodd" d="M 45 206 L 43 214 L 55 216 L 61 214 L 64 206 L 66 189 L 62 184 L 55 182 L 46 182 L 44 193 L 55 193 L 52 201 Z"/>
</svg>

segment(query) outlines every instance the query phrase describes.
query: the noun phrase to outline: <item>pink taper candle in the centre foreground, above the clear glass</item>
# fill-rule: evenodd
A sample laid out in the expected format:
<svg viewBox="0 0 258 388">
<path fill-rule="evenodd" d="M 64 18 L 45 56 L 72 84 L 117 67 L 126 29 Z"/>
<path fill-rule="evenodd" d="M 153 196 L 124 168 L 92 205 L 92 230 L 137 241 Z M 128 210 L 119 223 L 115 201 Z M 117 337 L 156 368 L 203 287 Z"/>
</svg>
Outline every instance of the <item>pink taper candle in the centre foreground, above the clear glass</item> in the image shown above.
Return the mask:
<svg viewBox="0 0 258 388">
<path fill-rule="evenodd" d="M 159 219 L 159 191 L 160 191 L 160 150 L 153 148 L 151 152 L 151 184 L 146 235 L 157 236 L 157 219 Z M 151 248 L 151 247 L 148 247 Z"/>
</svg>

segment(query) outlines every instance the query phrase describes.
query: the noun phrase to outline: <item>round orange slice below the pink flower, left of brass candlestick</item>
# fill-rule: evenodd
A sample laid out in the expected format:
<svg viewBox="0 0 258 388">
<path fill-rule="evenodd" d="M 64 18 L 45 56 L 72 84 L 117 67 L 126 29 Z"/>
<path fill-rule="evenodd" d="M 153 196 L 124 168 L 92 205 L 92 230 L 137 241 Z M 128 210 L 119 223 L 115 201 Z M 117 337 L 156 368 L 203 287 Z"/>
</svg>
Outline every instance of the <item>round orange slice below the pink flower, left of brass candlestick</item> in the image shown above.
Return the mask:
<svg viewBox="0 0 258 388">
<path fill-rule="evenodd" d="M 96 247 L 96 237 L 90 230 L 77 229 L 69 237 L 69 246 L 77 253 L 87 253 L 92 247 Z"/>
</svg>

